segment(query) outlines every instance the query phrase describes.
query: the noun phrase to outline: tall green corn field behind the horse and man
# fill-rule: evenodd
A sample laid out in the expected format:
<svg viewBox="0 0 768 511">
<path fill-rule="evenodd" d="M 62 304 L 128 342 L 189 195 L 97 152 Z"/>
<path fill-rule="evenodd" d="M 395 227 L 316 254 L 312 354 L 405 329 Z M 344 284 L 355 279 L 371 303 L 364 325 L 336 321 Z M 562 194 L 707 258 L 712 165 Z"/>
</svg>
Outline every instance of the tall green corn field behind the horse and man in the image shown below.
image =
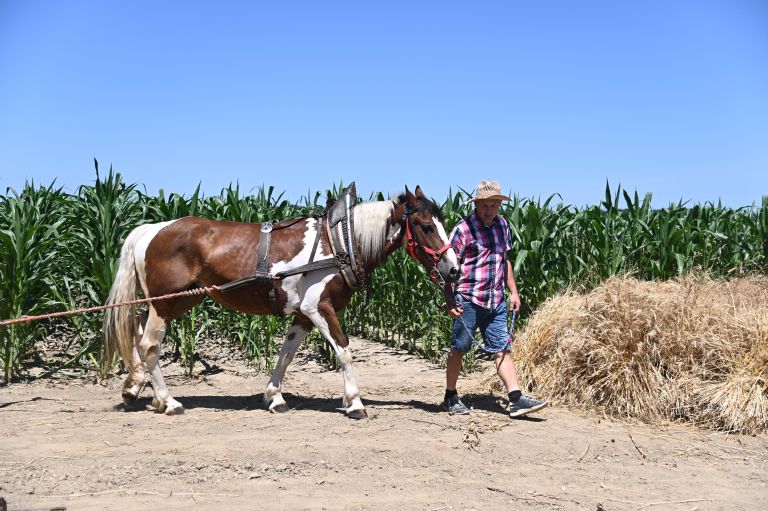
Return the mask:
<svg viewBox="0 0 768 511">
<path fill-rule="evenodd" d="M 272 187 L 244 193 L 230 185 L 204 197 L 160 192 L 150 196 L 126 183 L 110 168 L 105 177 L 96 162 L 96 181 L 76 193 L 54 184 L 27 183 L 0 195 L 0 319 L 17 318 L 103 304 L 116 271 L 122 241 L 137 225 L 186 215 L 262 222 L 320 213 L 343 185 L 290 203 Z M 470 194 L 449 191 L 435 200 L 448 229 L 471 212 Z M 590 288 L 606 278 L 633 274 L 646 280 L 669 279 L 700 271 L 715 277 L 768 273 L 768 196 L 761 204 L 733 209 L 721 204 L 670 204 L 651 208 L 651 195 L 612 191 L 595 206 L 576 208 L 517 196 L 502 207 L 515 248 L 511 254 L 523 298 L 523 319 L 547 297 L 565 287 Z M 382 200 L 381 193 L 369 200 Z M 356 294 L 342 315 L 349 335 L 385 342 L 437 360 L 450 345 L 450 318 L 443 299 L 424 270 L 405 251 L 397 251 L 373 274 L 368 289 Z M 0 327 L 0 362 L 10 383 L 24 367 L 42 364 L 41 342 L 67 336 L 66 360 L 49 365 L 85 370 L 100 365 L 101 315 L 73 315 Z M 167 351 L 192 374 L 203 337 L 237 345 L 256 365 L 271 368 L 278 351 L 274 339 L 286 322 L 230 311 L 204 300 L 171 323 Z M 316 333 L 307 340 L 330 354 Z M 329 363 L 333 363 L 328 358 Z M 472 363 L 468 357 L 467 364 Z M 109 364 L 107 364 L 109 365 Z"/>
</svg>

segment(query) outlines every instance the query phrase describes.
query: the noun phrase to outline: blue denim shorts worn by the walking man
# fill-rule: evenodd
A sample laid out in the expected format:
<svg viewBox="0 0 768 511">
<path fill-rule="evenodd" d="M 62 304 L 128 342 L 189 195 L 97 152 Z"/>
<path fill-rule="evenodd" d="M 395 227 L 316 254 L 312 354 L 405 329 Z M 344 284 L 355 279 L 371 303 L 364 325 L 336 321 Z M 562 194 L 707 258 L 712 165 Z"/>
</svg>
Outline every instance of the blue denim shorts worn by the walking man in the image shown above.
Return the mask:
<svg viewBox="0 0 768 511">
<path fill-rule="evenodd" d="M 451 348 L 462 353 L 468 352 L 472 347 L 472 337 L 477 339 L 475 334 L 479 328 L 485 342 L 478 347 L 483 351 L 498 353 L 510 349 L 511 339 L 507 331 L 506 300 L 503 300 L 495 309 L 485 309 L 458 293 L 453 298 L 458 305 L 464 307 L 464 313 L 461 318 L 453 320 Z"/>
</svg>

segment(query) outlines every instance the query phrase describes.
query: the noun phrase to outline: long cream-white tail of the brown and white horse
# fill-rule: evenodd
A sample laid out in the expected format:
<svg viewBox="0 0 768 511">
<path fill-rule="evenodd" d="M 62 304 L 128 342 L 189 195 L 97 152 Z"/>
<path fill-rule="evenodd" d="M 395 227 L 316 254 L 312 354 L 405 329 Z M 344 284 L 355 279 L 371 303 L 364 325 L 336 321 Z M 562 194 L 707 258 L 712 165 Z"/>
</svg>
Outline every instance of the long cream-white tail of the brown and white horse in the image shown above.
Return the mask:
<svg viewBox="0 0 768 511">
<path fill-rule="evenodd" d="M 152 224 L 144 224 L 135 228 L 123 243 L 120 253 L 120 264 L 117 268 L 115 281 L 109 291 L 107 305 L 128 302 L 136 299 L 136 260 L 134 250 Z M 133 360 L 133 339 L 136 336 L 136 306 L 122 306 L 107 309 L 104 313 L 104 368 L 112 367 L 116 353 L 130 364 Z"/>
</svg>

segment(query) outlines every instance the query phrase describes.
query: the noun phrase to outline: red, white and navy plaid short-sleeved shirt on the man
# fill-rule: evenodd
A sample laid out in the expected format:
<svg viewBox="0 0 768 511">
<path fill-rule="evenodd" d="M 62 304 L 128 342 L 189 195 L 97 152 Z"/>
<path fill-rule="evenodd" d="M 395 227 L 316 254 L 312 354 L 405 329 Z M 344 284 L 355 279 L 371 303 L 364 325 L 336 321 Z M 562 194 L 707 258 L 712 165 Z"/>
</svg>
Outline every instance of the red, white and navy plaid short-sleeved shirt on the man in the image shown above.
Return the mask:
<svg viewBox="0 0 768 511">
<path fill-rule="evenodd" d="M 461 265 L 456 292 L 480 307 L 498 307 L 504 300 L 504 270 L 512 248 L 507 220 L 497 215 L 486 227 L 473 211 L 456 224 L 450 239 Z"/>
</svg>

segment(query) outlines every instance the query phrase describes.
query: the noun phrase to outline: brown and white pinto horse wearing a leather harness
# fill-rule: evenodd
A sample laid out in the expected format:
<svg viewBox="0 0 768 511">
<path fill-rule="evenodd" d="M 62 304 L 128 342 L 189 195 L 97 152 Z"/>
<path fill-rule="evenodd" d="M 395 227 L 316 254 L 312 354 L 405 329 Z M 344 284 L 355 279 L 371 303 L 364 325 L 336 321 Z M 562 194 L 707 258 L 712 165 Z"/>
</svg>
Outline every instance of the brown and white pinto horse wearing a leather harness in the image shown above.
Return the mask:
<svg viewBox="0 0 768 511">
<path fill-rule="evenodd" d="M 354 183 L 351 187 L 354 189 Z M 166 415 L 184 412 L 183 405 L 165 385 L 159 364 L 161 343 L 168 323 L 200 303 L 204 294 L 239 312 L 293 316 L 264 392 L 267 410 L 289 410 L 282 396 L 282 380 L 302 340 L 316 327 L 340 363 L 346 415 L 353 419 L 367 417 L 338 312 L 349 303 L 361 282 L 367 281 L 398 248 L 406 248 L 436 285 L 455 281 L 459 265 L 443 215 L 420 186 L 415 193 L 406 187 L 405 193 L 389 200 L 353 207 L 347 200 L 346 212 L 342 221 L 336 220 L 344 227 L 343 234 L 330 228 L 332 211 L 266 228 L 265 224 L 190 216 L 144 224 L 131 231 L 121 249 L 107 305 L 135 300 L 137 287 L 147 298 L 211 289 L 151 301 L 141 315 L 137 315 L 135 306 L 106 311 L 105 358 L 110 364 L 115 355 L 123 360 L 127 372 L 122 388 L 125 408 L 135 405 L 144 388 L 146 367 L 154 391 L 154 410 Z M 336 253 L 336 233 L 341 238 L 346 236 L 349 254 L 343 250 L 342 254 Z M 264 240 L 266 243 L 262 243 Z M 268 249 L 264 249 L 265 244 Z M 350 258 L 354 265 L 345 264 Z M 343 271 L 353 266 L 354 274 Z M 254 268 L 257 273 L 261 269 L 260 278 L 254 277 Z"/>
</svg>

